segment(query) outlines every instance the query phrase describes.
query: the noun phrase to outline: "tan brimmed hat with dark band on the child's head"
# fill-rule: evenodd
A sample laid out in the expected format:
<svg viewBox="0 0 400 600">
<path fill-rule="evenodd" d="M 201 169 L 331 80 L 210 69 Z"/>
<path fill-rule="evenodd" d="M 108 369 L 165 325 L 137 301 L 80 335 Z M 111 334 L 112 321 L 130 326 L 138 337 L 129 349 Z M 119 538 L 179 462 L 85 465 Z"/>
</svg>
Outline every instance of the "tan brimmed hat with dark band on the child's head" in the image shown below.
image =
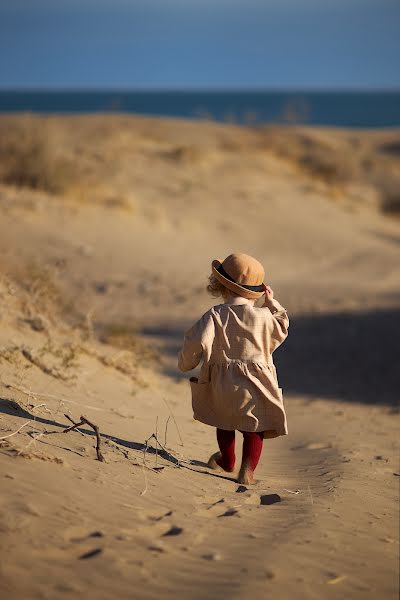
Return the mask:
<svg viewBox="0 0 400 600">
<path fill-rule="evenodd" d="M 211 268 L 218 281 L 242 298 L 260 298 L 265 293 L 264 268 L 248 254 L 230 254 L 223 262 L 213 260 Z"/>
</svg>

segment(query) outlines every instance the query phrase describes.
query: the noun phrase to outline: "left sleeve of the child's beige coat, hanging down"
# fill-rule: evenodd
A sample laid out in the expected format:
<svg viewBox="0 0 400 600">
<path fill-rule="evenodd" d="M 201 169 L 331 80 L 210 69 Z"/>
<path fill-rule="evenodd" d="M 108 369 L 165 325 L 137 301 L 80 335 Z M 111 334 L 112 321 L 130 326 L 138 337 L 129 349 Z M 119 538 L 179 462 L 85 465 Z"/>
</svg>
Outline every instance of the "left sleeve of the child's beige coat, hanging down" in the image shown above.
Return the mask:
<svg viewBox="0 0 400 600">
<path fill-rule="evenodd" d="M 209 312 L 205 313 L 186 333 L 182 350 L 178 354 L 178 367 L 181 371 L 191 371 L 200 363 L 206 340 L 214 336 L 214 321 Z"/>
</svg>

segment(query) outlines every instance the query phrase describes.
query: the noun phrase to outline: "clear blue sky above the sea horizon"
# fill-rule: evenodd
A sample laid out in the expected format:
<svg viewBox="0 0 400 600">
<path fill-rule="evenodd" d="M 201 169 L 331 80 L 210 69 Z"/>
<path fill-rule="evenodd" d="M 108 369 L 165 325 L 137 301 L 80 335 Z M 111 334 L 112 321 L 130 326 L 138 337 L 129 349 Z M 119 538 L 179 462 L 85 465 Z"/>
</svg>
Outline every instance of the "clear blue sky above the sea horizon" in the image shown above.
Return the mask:
<svg viewBox="0 0 400 600">
<path fill-rule="evenodd" d="M 400 89 L 400 0 L 0 0 L 0 88 Z"/>
</svg>

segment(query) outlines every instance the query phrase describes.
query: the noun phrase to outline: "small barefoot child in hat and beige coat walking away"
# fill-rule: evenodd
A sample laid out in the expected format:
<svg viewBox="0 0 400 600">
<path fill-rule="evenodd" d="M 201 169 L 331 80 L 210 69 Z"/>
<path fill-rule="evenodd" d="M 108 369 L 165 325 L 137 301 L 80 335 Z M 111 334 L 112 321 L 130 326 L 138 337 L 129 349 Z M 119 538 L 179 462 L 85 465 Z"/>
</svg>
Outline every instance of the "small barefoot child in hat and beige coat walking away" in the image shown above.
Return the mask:
<svg viewBox="0 0 400 600">
<path fill-rule="evenodd" d="M 219 452 L 213 469 L 235 467 L 235 430 L 243 434 L 238 482 L 255 483 L 263 439 L 287 434 L 282 389 L 272 353 L 288 334 L 286 309 L 263 283 L 264 269 L 247 254 L 212 262 L 207 290 L 223 304 L 208 310 L 185 334 L 179 352 L 181 371 L 203 359 L 199 379 L 191 377 L 194 418 L 217 428 Z M 265 295 L 262 308 L 254 306 Z"/>
</svg>

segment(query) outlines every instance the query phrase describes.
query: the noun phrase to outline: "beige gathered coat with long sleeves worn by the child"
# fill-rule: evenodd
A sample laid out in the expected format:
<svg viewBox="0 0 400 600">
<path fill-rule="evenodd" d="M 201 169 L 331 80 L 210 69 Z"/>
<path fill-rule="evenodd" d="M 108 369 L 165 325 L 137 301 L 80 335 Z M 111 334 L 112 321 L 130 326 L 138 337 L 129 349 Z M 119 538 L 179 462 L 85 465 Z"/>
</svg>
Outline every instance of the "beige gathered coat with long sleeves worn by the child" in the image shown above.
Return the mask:
<svg viewBox="0 0 400 600">
<path fill-rule="evenodd" d="M 269 306 L 218 304 L 185 333 L 180 370 L 203 359 L 199 379 L 190 379 L 196 420 L 264 437 L 287 434 L 272 353 L 288 334 L 289 317 L 277 300 Z"/>
</svg>

